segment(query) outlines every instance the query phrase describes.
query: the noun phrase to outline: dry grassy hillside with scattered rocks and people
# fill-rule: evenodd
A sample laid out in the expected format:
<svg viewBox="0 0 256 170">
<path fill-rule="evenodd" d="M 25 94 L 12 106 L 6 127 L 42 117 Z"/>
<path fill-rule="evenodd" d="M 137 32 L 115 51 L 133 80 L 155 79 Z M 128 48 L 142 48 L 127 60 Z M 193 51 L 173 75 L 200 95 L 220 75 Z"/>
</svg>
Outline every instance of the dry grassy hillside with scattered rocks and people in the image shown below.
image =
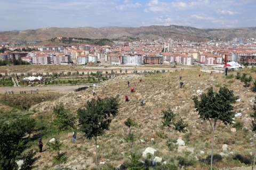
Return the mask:
<svg viewBox="0 0 256 170">
<path fill-rule="evenodd" d="M 244 70 L 247 74 L 252 75 L 253 78 L 256 74 L 249 70 Z M 198 76 L 201 74 L 201 77 Z M 236 74 L 236 72 L 229 74 Z M 179 77 L 182 77 L 184 82 L 183 88 L 180 88 Z M 140 82 L 139 80 L 142 79 Z M 130 81 L 130 86 L 135 87 L 135 92 L 131 93 L 130 88 L 127 86 L 127 81 Z M 105 90 L 103 86 L 107 84 Z M 252 134 L 250 133 L 250 116 L 252 112 L 251 106 L 253 104 L 254 96 L 256 95 L 251 91 L 250 87 L 245 88 L 240 80 L 235 77 L 227 79 L 222 73 L 202 73 L 198 70 L 182 70 L 176 72 L 166 72 L 155 75 L 122 75 L 115 77 L 105 83 L 102 83 L 94 90 L 97 92 L 97 97 L 110 97 L 119 95 L 119 113 L 113 119 L 110 125 L 110 131 L 99 137 L 99 162 L 106 162 L 105 165 L 100 165 L 101 168 L 107 167 L 108 164 L 118 166 L 122 163 L 128 162 L 130 155 L 131 145 L 124 140 L 128 129 L 124 125 L 124 121 L 130 117 L 138 123 L 138 127 L 134 129 L 137 141 L 135 142 L 135 150 L 138 154 L 147 147 L 153 147 L 157 150 L 155 156 L 167 159 L 167 132 L 162 128 L 161 117 L 162 110 L 167 110 L 169 107 L 188 123 L 188 132 L 185 134 L 179 132 L 171 132 L 172 139 L 179 139 L 185 141 L 185 146 L 193 150 L 190 152 L 185 149 L 184 152 L 178 152 L 177 149 L 171 152 L 172 160 L 175 162 L 178 156 L 186 157 L 187 159 L 205 158 L 210 155 L 211 151 L 211 129 L 208 122 L 198 120 L 198 114 L 194 112 L 193 95 L 199 95 L 200 92 L 207 92 L 207 88 L 213 86 L 214 90 L 219 90 L 219 87 L 226 86 L 234 90 L 234 94 L 240 97 L 239 101 L 235 104 L 235 112 L 242 113 L 241 116 L 235 118 L 235 122 L 242 125 L 240 128 L 237 126 L 236 132 L 231 132 L 232 125 L 225 126 L 218 122 L 217 131 L 215 132 L 215 145 L 214 152 L 224 152 L 229 157 L 239 153 L 249 156 L 253 152 L 250 142 L 252 142 Z M 129 95 L 129 102 L 125 102 L 124 95 Z M 140 106 L 140 98 L 145 98 L 145 105 Z M 42 118 L 47 117 L 52 120 L 53 106 L 62 102 L 66 108 L 70 108 L 73 114 L 79 107 L 84 107 L 86 101 L 93 98 L 92 89 L 87 89 L 80 92 L 70 92 L 57 100 L 44 101 L 36 104 L 30 108 L 34 111 L 32 117 L 41 115 Z M 237 124 L 238 124 L 237 123 Z M 244 127 L 242 129 L 242 127 Z M 246 129 L 249 129 L 247 131 Z M 43 141 L 46 143 L 54 135 L 45 135 Z M 77 141 L 72 142 L 72 132 L 63 132 L 60 140 L 65 143 L 63 151 L 67 151 L 69 160 L 66 166 L 73 169 L 93 169 L 95 167 L 95 146 L 93 140 L 87 140 L 83 137 L 81 132 L 77 134 Z M 145 142 L 141 142 L 141 139 Z M 222 145 L 227 144 L 228 149 L 223 151 Z M 50 152 L 47 147 L 37 165 L 39 169 L 52 169 L 53 152 Z M 39 155 L 39 154 L 38 154 Z M 229 157 L 224 157 L 221 163 L 215 166 L 219 168 L 229 167 L 230 169 L 234 164 L 233 160 Z M 177 162 L 175 162 L 177 163 Z M 207 169 L 205 166 L 198 164 L 196 169 Z"/>
</svg>

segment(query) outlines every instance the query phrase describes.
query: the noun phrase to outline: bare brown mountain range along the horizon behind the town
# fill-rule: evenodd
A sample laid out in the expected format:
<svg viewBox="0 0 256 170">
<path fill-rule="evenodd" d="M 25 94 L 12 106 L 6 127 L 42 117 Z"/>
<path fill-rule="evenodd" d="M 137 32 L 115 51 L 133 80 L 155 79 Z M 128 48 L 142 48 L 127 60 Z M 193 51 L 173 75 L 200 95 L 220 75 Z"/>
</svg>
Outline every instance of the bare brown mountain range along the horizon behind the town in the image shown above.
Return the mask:
<svg viewBox="0 0 256 170">
<path fill-rule="evenodd" d="M 39 28 L 35 30 L 4 31 L 0 32 L 0 43 L 14 43 L 20 40 L 47 41 L 55 37 L 76 37 L 90 39 L 116 39 L 140 38 L 140 39 L 165 39 L 208 41 L 231 40 L 236 37 L 256 38 L 256 27 L 249 28 L 222 28 L 222 29 L 198 29 L 178 25 L 151 25 L 148 27 L 79 27 L 79 28 Z"/>
</svg>

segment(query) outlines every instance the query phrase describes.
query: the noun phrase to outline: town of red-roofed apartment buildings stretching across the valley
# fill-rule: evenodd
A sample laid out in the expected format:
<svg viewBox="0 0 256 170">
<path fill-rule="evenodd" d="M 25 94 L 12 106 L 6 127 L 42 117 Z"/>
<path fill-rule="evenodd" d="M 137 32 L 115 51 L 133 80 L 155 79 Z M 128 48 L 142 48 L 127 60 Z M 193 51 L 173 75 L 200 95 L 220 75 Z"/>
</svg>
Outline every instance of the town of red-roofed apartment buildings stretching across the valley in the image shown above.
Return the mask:
<svg viewBox="0 0 256 170">
<path fill-rule="evenodd" d="M 115 42 L 114 46 L 79 45 L 70 47 L 10 46 L 9 51 L 0 53 L 0 61 L 23 60 L 30 64 L 93 64 L 103 60 L 115 65 L 153 65 L 177 63 L 193 65 L 195 61 L 207 64 L 222 64 L 228 61 L 256 65 L 256 42 L 254 38 L 231 41 L 209 41 L 195 43 L 159 38 L 133 42 Z M 14 52 L 15 49 L 33 48 L 32 52 Z M 1 47 L 0 47 L 1 49 Z"/>
</svg>

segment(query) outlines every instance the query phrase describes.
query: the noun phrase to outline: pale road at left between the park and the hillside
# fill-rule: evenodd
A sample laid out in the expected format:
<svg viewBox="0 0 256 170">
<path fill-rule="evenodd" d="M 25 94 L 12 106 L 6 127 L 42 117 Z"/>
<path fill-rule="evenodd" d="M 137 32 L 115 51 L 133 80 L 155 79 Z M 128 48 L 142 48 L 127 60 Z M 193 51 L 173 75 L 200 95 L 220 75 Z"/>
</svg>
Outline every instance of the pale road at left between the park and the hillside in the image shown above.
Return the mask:
<svg viewBox="0 0 256 170">
<path fill-rule="evenodd" d="M 86 85 L 76 85 L 76 86 L 35 86 L 35 87 L 0 87 L 0 94 L 4 94 L 7 90 L 13 90 L 14 94 L 20 94 L 20 91 L 26 91 L 30 93 L 31 90 L 38 89 L 38 92 L 60 92 L 67 94 L 68 92 L 73 92 L 75 89 L 80 87 L 85 87 Z"/>
</svg>

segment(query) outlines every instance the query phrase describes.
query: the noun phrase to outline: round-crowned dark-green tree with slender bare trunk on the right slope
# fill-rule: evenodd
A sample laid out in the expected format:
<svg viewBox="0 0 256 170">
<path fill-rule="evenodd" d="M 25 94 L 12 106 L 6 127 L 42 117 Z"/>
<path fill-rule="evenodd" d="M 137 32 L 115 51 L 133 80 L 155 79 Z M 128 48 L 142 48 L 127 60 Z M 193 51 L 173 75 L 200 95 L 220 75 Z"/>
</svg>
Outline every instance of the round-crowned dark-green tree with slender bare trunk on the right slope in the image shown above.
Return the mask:
<svg viewBox="0 0 256 170">
<path fill-rule="evenodd" d="M 212 170 L 212 158 L 213 158 L 213 142 L 214 131 L 217 125 L 217 121 L 223 122 L 225 125 L 232 124 L 235 112 L 233 112 L 234 104 L 239 98 L 234 96 L 233 90 L 229 90 L 226 87 L 220 87 L 219 92 L 214 92 L 213 87 L 209 88 L 207 94 L 202 94 L 201 101 L 198 97 L 193 98 L 196 111 L 199 114 L 199 118 L 209 121 L 212 130 L 212 152 L 211 152 L 211 170 Z"/>
</svg>

